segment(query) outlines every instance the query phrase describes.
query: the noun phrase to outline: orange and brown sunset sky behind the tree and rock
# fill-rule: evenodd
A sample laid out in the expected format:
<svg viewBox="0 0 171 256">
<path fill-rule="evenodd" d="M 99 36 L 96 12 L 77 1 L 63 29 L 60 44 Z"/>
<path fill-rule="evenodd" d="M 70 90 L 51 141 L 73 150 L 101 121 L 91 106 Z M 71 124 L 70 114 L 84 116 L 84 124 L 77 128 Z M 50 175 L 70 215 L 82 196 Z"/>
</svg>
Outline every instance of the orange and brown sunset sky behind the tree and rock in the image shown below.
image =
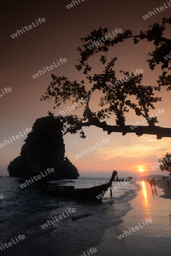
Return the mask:
<svg viewBox="0 0 171 256">
<path fill-rule="evenodd" d="M 70 1 L 69 1 L 70 2 Z M 150 3 L 137 1 L 85 1 L 73 9 L 66 9 L 65 5 L 68 0 L 57 3 L 50 1 L 36 3 L 31 1 L 21 6 L 15 6 L 14 3 L 4 3 L 3 7 L 3 24 L 2 36 L 3 42 L 1 47 L 1 88 L 11 87 L 12 92 L 0 98 L 1 112 L 1 135 L 0 143 L 19 131 L 32 127 L 36 118 L 47 115 L 47 111 L 59 113 L 64 107 L 72 105 L 70 102 L 65 106 L 61 105 L 55 111 L 53 102 L 41 102 L 39 99 L 45 93 L 49 82 L 51 82 L 51 73 L 57 76 L 66 76 L 70 80 L 77 79 L 80 81 L 83 76 L 74 68 L 79 57 L 77 47 L 80 46 L 80 39 L 86 36 L 93 29 L 99 26 L 109 28 L 109 31 L 115 28 L 121 28 L 122 31 L 131 29 L 139 32 L 145 30 L 150 24 L 160 22 L 163 16 L 169 17 L 170 10 L 166 9 L 148 20 L 142 18 L 149 10 L 163 5 L 162 1 L 152 1 Z M 123 4 L 124 3 L 124 4 Z M 52 8 L 53 6 L 53 8 Z M 122 13 L 122 15 L 120 15 Z M 37 18 L 45 18 L 46 22 L 25 34 L 12 39 L 11 34 L 19 30 L 22 26 L 31 24 Z M 166 36 L 170 38 L 170 30 L 166 31 Z M 118 44 L 115 49 L 111 49 L 110 56 L 118 57 L 115 70 L 132 72 L 137 68 L 143 69 L 143 84 L 155 85 L 156 80 L 161 73 L 160 67 L 155 71 L 149 69 L 147 63 L 148 52 L 154 49 L 152 43 L 141 42 L 137 45 L 132 40 L 127 40 Z M 168 49 L 169 53 L 170 49 Z M 66 58 L 67 63 L 47 72 L 37 79 L 32 75 L 44 65 L 51 65 L 57 59 Z M 101 65 L 95 57 L 90 60 L 93 65 L 94 73 L 101 72 Z M 90 86 L 86 84 L 87 86 Z M 97 104 L 101 93 L 94 93 L 91 101 L 91 110 L 97 110 Z M 156 104 L 157 109 L 164 109 L 165 113 L 161 114 L 157 125 L 162 127 L 171 127 L 170 121 L 170 92 L 162 89 L 160 92 L 162 102 Z M 80 113 L 80 110 L 73 110 L 72 114 Z M 154 110 L 151 111 L 154 113 Z M 134 113 L 130 112 L 126 125 L 134 125 L 136 121 L 141 121 Z M 109 123 L 115 124 L 113 121 Z M 135 134 L 122 136 L 119 133 L 108 135 L 97 127 L 88 127 L 86 139 L 79 138 L 79 134 L 64 136 L 66 156 L 78 168 L 80 175 L 97 175 L 105 176 L 117 170 L 120 175 L 136 174 L 139 170 L 152 172 L 151 166 L 157 163 L 159 158 L 164 157 L 166 152 L 170 151 L 170 139 L 162 138 L 157 140 L 156 136 L 143 135 L 137 137 Z M 109 138 L 110 143 L 105 146 L 76 159 L 81 150 L 91 147 L 102 139 Z M 12 142 L 0 149 L 0 175 L 7 175 L 6 169 L 9 162 L 20 153 L 20 148 L 24 138 Z M 123 172 L 123 173 L 122 173 Z M 101 173 L 101 174 L 99 174 Z M 153 174 L 163 174 L 163 172 L 152 172 Z M 141 175 L 141 174 L 140 174 Z"/>
</svg>

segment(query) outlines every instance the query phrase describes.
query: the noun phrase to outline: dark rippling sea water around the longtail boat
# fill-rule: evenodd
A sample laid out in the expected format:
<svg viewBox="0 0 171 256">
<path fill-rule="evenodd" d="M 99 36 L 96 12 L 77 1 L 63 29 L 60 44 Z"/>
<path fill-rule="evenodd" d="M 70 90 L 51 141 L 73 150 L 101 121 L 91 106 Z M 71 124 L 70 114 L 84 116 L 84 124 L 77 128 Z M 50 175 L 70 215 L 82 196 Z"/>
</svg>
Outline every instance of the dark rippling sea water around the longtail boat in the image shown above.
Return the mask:
<svg viewBox="0 0 171 256">
<path fill-rule="evenodd" d="M 12 239 L 16 242 L 19 234 L 26 238 L 9 248 L 2 247 L 1 255 L 81 255 L 81 251 L 102 241 L 106 228 L 122 222 L 121 217 L 131 209 L 129 201 L 140 189 L 134 180 L 124 186 L 118 182 L 122 188 L 113 192 L 112 199 L 105 195 L 102 201 L 81 201 L 42 195 L 37 187 L 21 189 L 19 180 L 0 178 L 0 195 L 4 196 L 0 199 L 0 247 Z M 105 181 L 107 179 L 80 178 L 75 187 L 93 187 Z M 69 208 L 76 212 L 66 216 Z M 63 218 L 55 221 L 55 216 L 62 212 Z M 55 223 L 49 222 L 47 227 L 41 228 L 49 220 Z"/>
</svg>

